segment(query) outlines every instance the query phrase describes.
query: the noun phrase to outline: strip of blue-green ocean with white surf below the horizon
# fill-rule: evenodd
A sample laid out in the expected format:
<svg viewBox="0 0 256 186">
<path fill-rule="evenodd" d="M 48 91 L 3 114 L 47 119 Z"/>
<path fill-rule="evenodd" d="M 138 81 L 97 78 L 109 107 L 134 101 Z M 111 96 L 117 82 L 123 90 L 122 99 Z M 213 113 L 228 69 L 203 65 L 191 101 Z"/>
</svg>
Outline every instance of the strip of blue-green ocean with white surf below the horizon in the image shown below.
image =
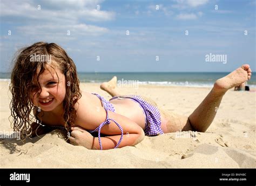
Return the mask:
<svg viewBox="0 0 256 186">
<path fill-rule="evenodd" d="M 166 86 L 186 86 L 186 87 L 212 87 L 214 82 L 226 73 L 78 73 L 80 82 L 102 83 L 109 81 L 113 76 L 117 76 L 119 84 L 140 85 L 155 84 Z M 0 73 L 2 81 L 10 79 L 9 73 Z M 252 76 L 247 82 L 248 86 L 256 87 L 256 76 Z"/>
</svg>

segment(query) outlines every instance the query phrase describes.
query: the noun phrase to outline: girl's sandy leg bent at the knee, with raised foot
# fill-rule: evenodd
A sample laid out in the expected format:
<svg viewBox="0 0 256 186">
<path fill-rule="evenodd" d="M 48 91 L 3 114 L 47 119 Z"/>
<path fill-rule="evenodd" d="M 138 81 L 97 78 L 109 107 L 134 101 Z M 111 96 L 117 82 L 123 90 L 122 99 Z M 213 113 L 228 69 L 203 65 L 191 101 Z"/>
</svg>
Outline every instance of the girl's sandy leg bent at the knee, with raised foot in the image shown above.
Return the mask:
<svg viewBox="0 0 256 186">
<path fill-rule="evenodd" d="M 164 112 L 160 110 L 161 115 L 164 116 L 162 129 L 165 133 L 176 132 L 179 130 L 196 130 L 199 132 L 205 132 L 211 125 L 219 108 L 221 99 L 225 95 L 226 91 L 250 80 L 251 75 L 252 71 L 250 66 L 242 65 L 242 67 L 217 80 L 203 102 L 201 102 L 189 117 L 179 116 L 171 112 Z"/>
</svg>

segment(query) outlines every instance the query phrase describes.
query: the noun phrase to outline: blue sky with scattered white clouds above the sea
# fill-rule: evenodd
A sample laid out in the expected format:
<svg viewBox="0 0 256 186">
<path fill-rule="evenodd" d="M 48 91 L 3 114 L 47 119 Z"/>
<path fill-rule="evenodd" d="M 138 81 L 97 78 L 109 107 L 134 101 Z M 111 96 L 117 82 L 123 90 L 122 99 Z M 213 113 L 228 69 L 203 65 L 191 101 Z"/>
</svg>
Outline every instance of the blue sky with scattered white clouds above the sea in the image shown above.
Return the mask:
<svg viewBox="0 0 256 186">
<path fill-rule="evenodd" d="M 1 0 L 0 71 L 10 71 L 17 49 L 37 41 L 62 46 L 78 71 L 232 71 L 242 63 L 254 71 L 255 6 L 255 0 Z M 206 61 L 210 53 L 227 62 Z"/>
</svg>

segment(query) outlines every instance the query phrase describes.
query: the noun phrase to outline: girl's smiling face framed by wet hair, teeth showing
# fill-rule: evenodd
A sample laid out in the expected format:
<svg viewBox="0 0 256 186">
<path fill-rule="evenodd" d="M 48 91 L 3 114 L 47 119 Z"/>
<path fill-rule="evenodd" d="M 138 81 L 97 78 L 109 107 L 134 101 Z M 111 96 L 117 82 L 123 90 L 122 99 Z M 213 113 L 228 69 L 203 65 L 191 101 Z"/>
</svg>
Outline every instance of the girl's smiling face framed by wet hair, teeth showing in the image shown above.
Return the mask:
<svg viewBox="0 0 256 186">
<path fill-rule="evenodd" d="M 39 75 L 38 83 L 42 90 L 31 92 L 33 105 L 46 112 L 60 112 L 66 94 L 65 75 L 58 68 L 48 67 Z"/>
</svg>

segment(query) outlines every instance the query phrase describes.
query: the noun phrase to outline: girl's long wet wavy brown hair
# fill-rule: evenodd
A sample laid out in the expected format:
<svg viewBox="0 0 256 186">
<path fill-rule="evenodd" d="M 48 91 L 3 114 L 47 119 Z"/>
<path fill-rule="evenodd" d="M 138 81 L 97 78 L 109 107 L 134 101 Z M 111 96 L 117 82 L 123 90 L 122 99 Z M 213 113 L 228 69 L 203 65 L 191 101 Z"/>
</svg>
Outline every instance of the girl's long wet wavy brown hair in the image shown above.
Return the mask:
<svg viewBox="0 0 256 186">
<path fill-rule="evenodd" d="M 47 58 L 33 61 L 31 60 L 33 55 L 51 56 L 53 62 L 49 63 Z M 30 95 L 31 92 L 39 92 L 40 94 L 42 89 L 38 79 L 44 70 L 49 67 L 53 69 L 59 68 L 66 78 L 66 94 L 63 101 L 63 117 L 66 130 L 69 131 L 70 127 L 75 123 L 77 117 L 75 104 L 81 97 L 76 65 L 64 49 L 57 44 L 36 42 L 29 47 L 22 48 L 14 59 L 10 83 L 12 94 L 10 109 L 11 117 L 13 118 L 11 127 L 14 128 L 15 132 L 26 132 L 31 123 L 37 119 L 31 115 L 31 111 L 36 110 L 37 116 L 38 108 L 33 105 Z M 37 82 L 36 87 L 35 83 L 33 84 L 35 80 Z M 36 94 L 38 93 L 35 93 L 33 96 Z"/>
</svg>

